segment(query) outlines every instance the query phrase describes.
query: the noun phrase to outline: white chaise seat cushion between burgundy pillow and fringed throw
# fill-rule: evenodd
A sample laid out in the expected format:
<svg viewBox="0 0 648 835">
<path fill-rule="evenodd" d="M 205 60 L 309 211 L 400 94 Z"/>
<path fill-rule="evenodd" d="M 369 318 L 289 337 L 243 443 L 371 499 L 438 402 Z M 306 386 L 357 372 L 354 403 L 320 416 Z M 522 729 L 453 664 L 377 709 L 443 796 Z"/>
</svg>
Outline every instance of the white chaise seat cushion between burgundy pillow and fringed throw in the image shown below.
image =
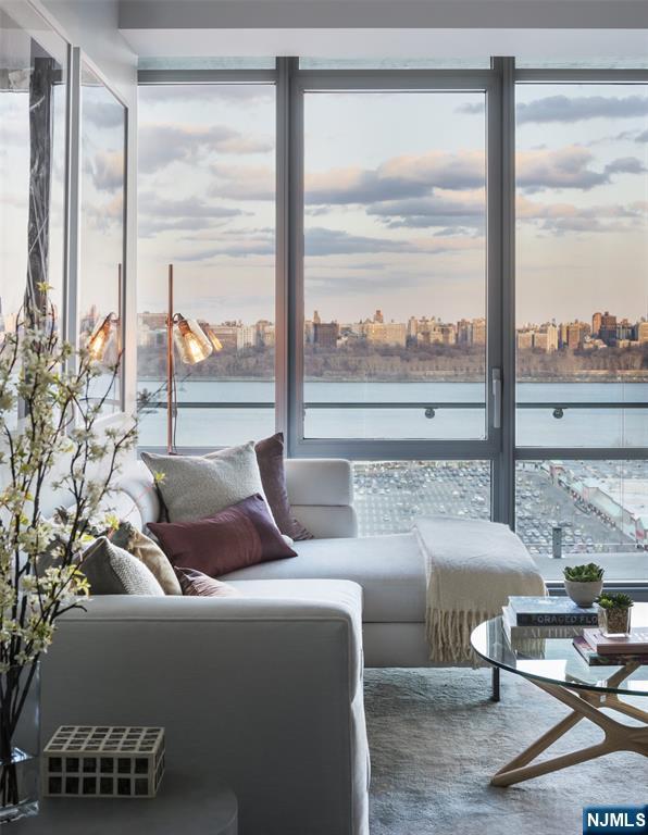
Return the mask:
<svg viewBox="0 0 648 835">
<path fill-rule="evenodd" d="M 222 579 L 350 579 L 363 588 L 365 622 L 425 621 L 425 561 L 413 534 L 309 539 L 294 548 L 291 560 L 251 565 Z"/>
</svg>

